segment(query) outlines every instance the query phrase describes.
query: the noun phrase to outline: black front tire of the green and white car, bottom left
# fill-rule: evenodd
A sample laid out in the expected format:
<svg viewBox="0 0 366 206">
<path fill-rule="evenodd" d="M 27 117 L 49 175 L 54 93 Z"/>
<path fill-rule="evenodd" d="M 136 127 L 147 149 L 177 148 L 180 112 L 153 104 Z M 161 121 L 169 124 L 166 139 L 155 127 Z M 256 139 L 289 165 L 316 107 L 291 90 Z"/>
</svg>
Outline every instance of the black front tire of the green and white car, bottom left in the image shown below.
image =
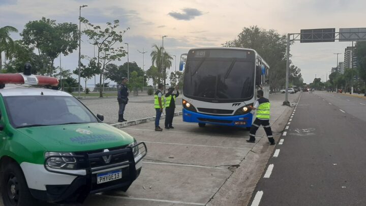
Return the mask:
<svg viewBox="0 0 366 206">
<path fill-rule="evenodd" d="M 17 163 L 12 162 L 5 166 L 1 183 L 5 206 L 37 205 L 37 200 L 29 192 L 23 171 Z"/>
</svg>

